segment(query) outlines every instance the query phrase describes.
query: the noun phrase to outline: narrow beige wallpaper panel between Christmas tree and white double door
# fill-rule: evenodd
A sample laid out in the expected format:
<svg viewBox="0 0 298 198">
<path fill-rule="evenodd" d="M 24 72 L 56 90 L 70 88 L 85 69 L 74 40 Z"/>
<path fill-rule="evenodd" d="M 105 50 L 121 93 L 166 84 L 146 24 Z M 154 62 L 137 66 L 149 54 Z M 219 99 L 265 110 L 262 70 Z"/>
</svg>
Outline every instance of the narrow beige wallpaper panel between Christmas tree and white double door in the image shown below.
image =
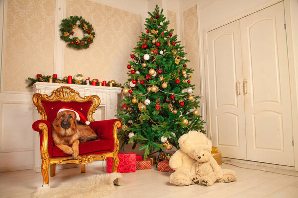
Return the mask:
<svg viewBox="0 0 298 198">
<path fill-rule="evenodd" d="M 183 11 L 183 35 L 186 58 L 190 60 L 187 67 L 193 68 L 195 71 L 192 74 L 194 83 L 195 95 L 201 95 L 200 83 L 200 59 L 199 59 L 199 36 L 198 36 L 198 18 L 197 6 L 194 5 Z"/>
</svg>

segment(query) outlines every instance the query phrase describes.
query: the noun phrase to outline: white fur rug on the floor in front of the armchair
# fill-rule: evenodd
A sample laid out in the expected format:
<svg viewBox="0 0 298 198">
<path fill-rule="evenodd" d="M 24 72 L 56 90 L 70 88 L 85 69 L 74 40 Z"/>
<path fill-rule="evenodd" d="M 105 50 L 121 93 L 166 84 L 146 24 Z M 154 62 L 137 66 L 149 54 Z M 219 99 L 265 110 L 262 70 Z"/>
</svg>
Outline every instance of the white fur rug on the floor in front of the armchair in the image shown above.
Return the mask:
<svg viewBox="0 0 298 198">
<path fill-rule="evenodd" d="M 81 181 L 62 183 L 59 187 L 39 187 L 32 198 L 101 198 L 110 195 L 114 180 L 122 178 L 120 173 L 92 175 Z"/>
</svg>

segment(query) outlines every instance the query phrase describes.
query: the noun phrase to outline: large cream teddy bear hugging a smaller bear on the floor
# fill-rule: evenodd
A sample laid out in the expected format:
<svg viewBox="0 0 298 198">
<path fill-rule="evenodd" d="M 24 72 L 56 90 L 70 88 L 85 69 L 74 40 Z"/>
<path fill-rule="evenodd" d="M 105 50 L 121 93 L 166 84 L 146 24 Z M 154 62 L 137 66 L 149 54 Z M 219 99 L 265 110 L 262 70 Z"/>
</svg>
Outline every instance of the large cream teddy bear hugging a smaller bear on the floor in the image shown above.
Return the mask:
<svg viewBox="0 0 298 198">
<path fill-rule="evenodd" d="M 180 149 L 171 156 L 169 161 L 169 166 L 175 170 L 169 178 L 171 184 L 211 186 L 215 181 L 230 182 L 237 179 L 234 171 L 223 170 L 217 164 L 211 155 L 212 142 L 203 133 L 190 131 L 179 138 L 178 144 Z M 211 174 L 212 179 L 203 173 Z"/>
</svg>

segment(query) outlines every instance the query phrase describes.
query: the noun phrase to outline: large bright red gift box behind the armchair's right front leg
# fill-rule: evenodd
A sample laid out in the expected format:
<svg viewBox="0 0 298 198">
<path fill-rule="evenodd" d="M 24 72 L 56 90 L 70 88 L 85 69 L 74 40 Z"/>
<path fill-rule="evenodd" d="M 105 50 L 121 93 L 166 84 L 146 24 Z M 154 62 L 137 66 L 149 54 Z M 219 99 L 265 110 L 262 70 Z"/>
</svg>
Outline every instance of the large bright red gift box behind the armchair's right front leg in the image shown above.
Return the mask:
<svg viewBox="0 0 298 198">
<path fill-rule="evenodd" d="M 136 153 L 126 152 L 118 153 L 119 165 L 117 168 L 118 173 L 131 173 L 136 172 Z M 107 157 L 107 173 L 112 173 L 113 160 Z"/>
</svg>

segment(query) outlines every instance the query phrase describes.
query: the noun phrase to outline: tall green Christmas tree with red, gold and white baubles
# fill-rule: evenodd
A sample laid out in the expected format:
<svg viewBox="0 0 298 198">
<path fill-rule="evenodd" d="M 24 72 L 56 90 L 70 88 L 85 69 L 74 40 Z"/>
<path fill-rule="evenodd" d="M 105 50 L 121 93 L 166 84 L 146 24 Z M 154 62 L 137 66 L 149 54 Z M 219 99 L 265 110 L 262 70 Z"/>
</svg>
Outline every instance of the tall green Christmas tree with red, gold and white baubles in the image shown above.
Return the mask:
<svg viewBox="0 0 298 198">
<path fill-rule="evenodd" d="M 118 119 L 122 128 L 118 133 L 122 146 L 137 143 L 145 149 L 144 157 L 159 149 L 178 148 L 178 139 L 191 130 L 203 131 L 203 121 L 197 110 L 198 96 L 186 65 L 185 52 L 177 35 L 168 30 L 156 8 L 146 19 L 146 33 L 142 32 L 129 61 L 128 82 L 125 83 L 122 108 Z"/>
</svg>

